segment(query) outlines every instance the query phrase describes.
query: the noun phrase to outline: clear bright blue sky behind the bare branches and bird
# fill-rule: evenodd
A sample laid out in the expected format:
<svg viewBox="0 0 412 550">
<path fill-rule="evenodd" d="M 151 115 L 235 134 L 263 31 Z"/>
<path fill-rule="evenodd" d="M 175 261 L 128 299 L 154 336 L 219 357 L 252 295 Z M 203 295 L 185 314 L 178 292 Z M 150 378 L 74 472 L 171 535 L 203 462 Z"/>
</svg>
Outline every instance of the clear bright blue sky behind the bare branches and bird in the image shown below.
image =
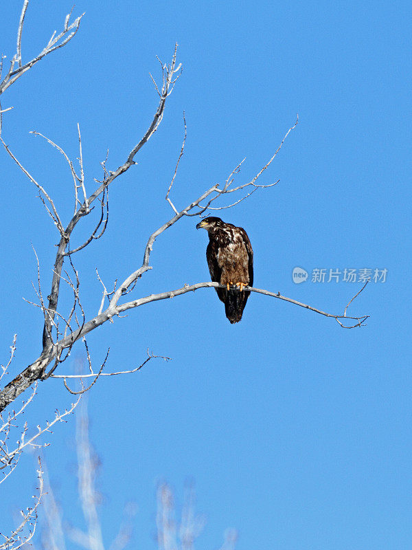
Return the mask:
<svg viewBox="0 0 412 550">
<path fill-rule="evenodd" d="M 1 52 L 14 52 L 21 2 L 2 10 Z M 71 8 L 32 2 L 23 59 L 36 54 Z M 242 225 L 255 251 L 255 286 L 338 313 L 357 283 L 295 285 L 294 267 L 387 270 L 352 305 L 367 327 L 343 330 L 288 303 L 253 294 L 230 325 L 211 289 L 135 311 L 95 331 L 95 364 L 151 362 L 136 375 L 101 380 L 91 391 L 91 438 L 102 460 L 107 543 L 126 500 L 139 507 L 136 547 L 155 548 L 155 484 L 166 478 L 179 502 L 187 476 L 208 517 L 199 549 L 218 547 L 226 527 L 239 550 L 392 550 L 411 547 L 412 439 L 410 294 L 411 9 L 407 2 L 93 2 L 67 47 L 36 65 L 2 96 L 14 106 L 3 137 L 71 214 L 71 179 L 35 129 L 77 155 L 80 123 L 87 187 L 124 162 L 152 120 L 157 95 L 148 75 L 179 43 L 183 75 L 159 131 L 139 163 L 111 188 L 104 239 L 76 256 L 89 315 L 107 285 L 139 267 L 147 237 L 171 214 L 164 200 L 187 120 L 185 155 L 173 197 L 184 206 L 223 181 L 244 157 L 239 181 L 266 164 L 299 113 L 299 125 L 264 175 L 279 184 L 222 212 Z M 0 151 L 2 358 L 18 333 L 14 369 L 41 351 L 32 299 L 38 253 L 45 288 L 58 234 L 36 192 Z M 224 214 L 224 215 L 223 215 Z M 165 232 L 153 270 L 133 296 L 207 281 L 207 234 L 196 219 Z M 75 234 L 81 241 L 82 231 Z M 47 291 L 49 292 L 49 291 Z M 407 338 L 409 336 L 409 339 Z M 80 349 L 80 348 L 79 348 Z M 76 353 L 73 352 L 73 356 Z M 3 362 L 3 360 L 2 360 Z M 69 362 L 62 372 L 71 369 Z M 15 371 L 15 372 L 16 372 Z M 71 396 L 41 384 L 27 415 L 53 417 Z M 73 470 L 73 421 L 45 454 L 67 520 L 80 523 Z M 28 505 L 33 457 L 2 485 L 1 518 Z M 6 514 L 7 512 L 7 514 Z M 81 526 L 81 523 L 80 523 Z M 3 529 L 0 529 L 0 531 Z"/>
</svg>

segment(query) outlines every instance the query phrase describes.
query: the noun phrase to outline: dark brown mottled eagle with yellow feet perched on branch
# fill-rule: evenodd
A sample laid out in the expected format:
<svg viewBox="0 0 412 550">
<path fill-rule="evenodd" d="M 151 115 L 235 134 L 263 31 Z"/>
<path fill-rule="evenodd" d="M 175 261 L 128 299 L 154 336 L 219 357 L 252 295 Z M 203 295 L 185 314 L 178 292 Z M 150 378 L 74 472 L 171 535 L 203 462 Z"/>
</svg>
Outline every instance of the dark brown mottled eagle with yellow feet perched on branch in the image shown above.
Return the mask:
<svg viewBox="0 0 412 550">
<path fill-rule="evenodd" d="M 216 292 L 225 304 L 229 321 L 239 322 L 251 294 L 243 287 L 253 286 L 253 250 L 249 236 L 243 228 L 213 216 L 196 225 L 196 229 L 201 228 L 209 234 L 206 259 L 211 280 L 227 287 L 216 288 Z"/>
</svg>

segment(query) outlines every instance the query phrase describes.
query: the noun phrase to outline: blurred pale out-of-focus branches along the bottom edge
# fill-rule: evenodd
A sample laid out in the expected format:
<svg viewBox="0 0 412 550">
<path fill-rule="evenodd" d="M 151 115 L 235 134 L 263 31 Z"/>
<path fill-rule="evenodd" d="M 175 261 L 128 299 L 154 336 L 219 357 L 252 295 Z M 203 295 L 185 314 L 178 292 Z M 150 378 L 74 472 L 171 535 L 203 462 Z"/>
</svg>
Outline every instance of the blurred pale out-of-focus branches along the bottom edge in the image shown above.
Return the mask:
<svg viewBox="0 0 412 550">
<path fill-rule="evenodd" d="M 90 439 L 87 396 L 82 398 L 76 411 L 76 455 L 78 499 L 86 529 L 71 523 L 69 518 L 73 516 L 72 504 L 60 500 L 53 483 L 49 480 L 47 467 L 43 465 L 45 494 L 43 494 L 43 507 L 39 521 L 40 547 L 49 550 L 65 550 L 72 542 L 84 550 L 104 550 L 105 548 L 124 550 L 135 547 L 137 540 L 142 544 L 141 541 L 148 539 L 149 533 L 136 533 L 134 524 L 139 510 L 132 500 L 124 505 L 123 518 L 118 531 L 112 533 L 113 540 L 104 541 L 101 515 L 105 499 L 98 490 L 98 477 L 105 475 L 105 472 L 100 474 L 100 460 Z M 195 500 L 194 486 L 192 483 L 187 483 L 181 507 L 181 519 L 176 520 L 172 488 L 165 482 L 158 484 L 156 539 L 159 550 L 194 550 L 194 542 L 201 536 L 207 523 L 206 516 L 196 514 Z M 236 538 L 234 529 L 226 529 L 225 543 L 221 550 L 234 550 Z"/>
</svg>

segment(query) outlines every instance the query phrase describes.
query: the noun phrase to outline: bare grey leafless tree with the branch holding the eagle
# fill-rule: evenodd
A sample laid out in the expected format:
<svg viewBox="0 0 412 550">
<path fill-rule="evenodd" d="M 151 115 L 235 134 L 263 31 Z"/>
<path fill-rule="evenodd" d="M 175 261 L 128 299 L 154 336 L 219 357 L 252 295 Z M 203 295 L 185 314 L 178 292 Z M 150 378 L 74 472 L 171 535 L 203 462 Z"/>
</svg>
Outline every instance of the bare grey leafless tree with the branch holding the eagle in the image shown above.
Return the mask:
<svg viewBox="0 0 412 550">
<path fill-rule="evenodd" d="M 56 32 L 52 35 L 52 38 L 47 43 L 46 47 L 42 50 L 38 56 L 33 58 L 31 61 L 23 63 L 22 61 L 22 48 L 21 48 L 21 36 L 23 30 L 23 23 L 27 11 L 29 0 L 24 0 L 23 9 L 21 12 L 21 17 L 18 25 L 17 32 L 17 45 L 16 53 L 12 57 L 8 71 L 5 70 L 4 58 L 1 59 L 0 65 L 0 94 L 8 89 L 18 78 L 23 76 L 33 65 L 41 61 L 42 58 L 48 54 L 58 50 L 67 44 L 73 36 L 78 32 L 82 16 L 77 17 L 72 23 L 70 23 L 71 13 L 65 18 L 65 22 L 60 34 Z M 160 61 L 160 60 L 159 60 Z M 173 226 L 178 223 L 184 217 L 199 217 L 207 212 L 214 212 L 216 210 L 222 210 L 225 208 L 231 208 L 236 204 L 240 203 L 244 199 L 250 197 L 257 190 L 268 190 L 275 186 L 277 181 L 271 184 L 260 184 L 260 177 L 264 171 L 271 165 L 275 159 L 280 148 L 284 144 L 284 140 L 289 135 L 293 129 L 295 129 L 298 120 L 290 126 L 284 139 L 279 144 L 279 147 L 273 153 L 271 159 L 260 169 L 256 170 L 255 176 L 250 180 L 244 183 L 235 183 L 235 180 L 238 177 L 240 168 L 244 159 L 230 171 L 229 176 L 221 184 L 216 184 L 209 186 L 204 190 L 199 197 L 195 197 L 187 201 L 187 205 L 178 207 L 172 201 L 172 187 L 174 184 L 174 179 L 176 178 L 177 170 L 179 168 L 179 162 L 183 155 L 185 140 L 186 140 L 186 123 L 185 126 L 185 137 L 183 139 L 183 144 L 181 146 L 181 151 L 179 158 L 176 162 L 176 167 L 174 168 L 174 173 L 170 181 L 170 185 L 165 189 L 165 200 L 170 205 L 172 210 L 172 215 L 170 219 L 165 220 L 165 222 L 157 229 L 155 229 L 152 234 L 148 237 L 146 247 L 143 252 L 143 261 L 140 267 L 135 270 L 133 273 L 130 273 L 124 281 L 120 283 L 115 283 L 111 287 L 107 287 L 100 275 L 97 272 L 98 279 L 102 284 L 102 300 L 100 303 L 99 310 L 95 313 L 95 316 L 92 318 L 87 318 L 84 314 L 84 309 L 82 307 L 82 300 L 80 295 L 80 278 L 78 271 L 74 265 L 74 260 L 76 254 L 82 253 L 85 248 L 93 244 L 93 241 L 96 239 L 101 239 L 104 236 L 104 232 L 108 224 L 108 190 L 113 184 L 113 181 L 118 179 L 122 174 L 127 170 L 133 167 L 136 164 L 135 158 L 139 153 L 140 149 L 148 142 L 150 137 L 154 135 L 157 131 L 159 124 L 163 118 L 165 112 L 166 104 L 168 103 L 168 98 L 176 85 L 177 80 L 181 75 L 181 64 L 177 61 L 177 45 L 174 47 L 174 52 L 172 54 L 172 59 L 170 63 L 160 63 L 161 64 L 161 80 L 158 83 L 155 78 L 152 77 L 153 84 L 155 85 L 155 92 L 159 96 L 159 103 L 157 109 L 152 116 L 152 120 L 148 125 L 146 133 L 133 148 L 130 150 L 130 153 L 124 155 L 124 162 L 120 164 L 115 170 L 110 170 L 107 166 L 107 157 L 101 163 L 102 164 L 102 178 L 100 180 L 94 179 L 93 181 L 87 181 L 84 175 L 83 169 L 83 155 L 82 155 L 82 137 L 80 133 L 80 126 L 78 125 L 78 146 L 79 146 L 79 156 L 78 164 L 73 162 L 65 153 L 62 147 L 50 140 L 45 135 L 34 132 L 35 135 L 45 139 L 51 146 L 57 149 L 67 162 L 67 167 L 69 170 L 69 177 L 71 179 L 71 185 L 73 186 L 73 216 L 69 220 L 62 218 L 56 208 L 56 203 L 54 199 L 49 194 L 45 186 L 32 175 L 27 168 L 23 165 L 16 155 L 13 152 L 12 146 L 9 146 L 1 135 L 3 129 L 3 118 L 5 112 L 11 109 L 11 107 L 1 110 L 0 105 L 0 140 L 1 144 L 5 151 L 20 170 L 25 174 L 25 176 L 31 181 L 33 186 L 38 191 L 38 194 L 41 198 L 43 206 L 47 211 L 50 219 L 54 224 L 54 227 L 58 231 L 58 246 L 56 252 L 56 258 L 54 261 L 54 266 L 52 268 L 52 282 L 47 290 L 43 292 L 43 286 L 41 285 L 40 278 L 40 266 L 38 263 L 38 281 L 36 285 L 36 302 L 32 302 L 35 307 L 41 310 L 43 314 L 43 350 L 41 355 L 36 358 L 29 366 L 27 366 L 21 373 L 16 375 L 4 388 L 0 391 L 0 411 L 8 406 L 16 397 L 18 397 L 23 391 L 32 386 L 36 380 L 46 380 L 48 377 L 62 377 L 67 385 L 67 375 L 61 373 L 55 373 L 57 367 L 60 363 L 64 362 L 65 359 L 69 356 L 73 345 L 76 342 L 81 341 L 84 344 L 84 347 L 87 352 L 87 357 L 89 358 L 89 373 L 82 375 L 83 378 L 89 377 L 91 379 L 91 384 L 99 376 L 104 375 L 102 373 L 106 360 L 100 366 L 100 369 L 93 370 L 91 367 L 89 350 L 87 347 L 87 334 L 97 327 L 100 327 L 105 322 L 113 322 L 113 319 L 120 316 L 128 309 L 135 309 L 141 305 L 155 302 L 157 300 L 164 300 L 167 298 L 173 298 L 176 296 L 181 296 L 187 292 L 194 292 L 200 288 L 207 287 L 217 287 L 218 283 L 211 283 L 210 281 L 195 283 L 192 285 L 183 285 L 178 289 L 165 289 L 164 292 L 159 294 L 150 294 L 149 296 L 133 298 L 133 300 L 126 299 L 126 296 L 132 292 L 139 278 L 144 276 L 144 274 L 151 270 L 150 265 L 150 252 L 152 252 L 153 245 L 157 237 L 161 236 L 166 230 L 173 228 Z M 232 195 L 233 194 L 233 195 Z M 229 201 L 229 204 L 225 204 L 222 199 L 226 197 L 233 197 L 233 200 Z M 71 236 L 73 230 L 76 226 L 83 221 L 83 219 L 91 214 L 91 212 L 98 212 L 98 220 L 95 223 L 95 228 L 89 234 L 87 239 L 76 248 L 71 248 Z M 37 256 L 36 256 L 37 257 Z M 38 259 L 37 259 L 38 262 Z M 69 311 L 62 311 L 59 309 L 59 296 L 62 289 L 62 285 L 67 285 L 69 290 L 72 293 L 73 300 L 71 309 Z M 345 307 L 343 314 L 330 314 L 325 311 L 321 311 L 310 305 L 302 304 L 293 300 L 291 298 L 286 298 L 282 296 L 279 292 L 269 292 L 264 289 L 257 289 L 252 287 L 247 287 L 247 290 L 251 292 L 258 292 L 260 294 L 265 294 L 266 296 L 271 296 L 273 298 L 278 298 L 279 300 L 286 300 L 300 307 L 310 309 L 315 311 L 318 314 L 323 316 L 334 318 L 341 327 L 353 328 L 361 327 L 367 316 L 347 316 L 347 307 Z M 360 291 L 361 292 L 361 291 Z M 358 293 L 359 294 L 359 293 Z M 356 296 L 358 296 L 356 294 Z M 356 298 L 354 296 L 354 298 Z M 352 298 L 352 300 L 354 299 Z M 351 302 L 352 302 L 351 300 Z M 345 323 L 349 322 L 349 325 Z M 149 355 L 148 360 L 152 359 L 152 355 Z M 107 359 L 107 355 L 106 355 Z M 112 373 L 109 373 L 112 374 Z M 87 388 L 84 388 L 86 391 Z M 73 391 L 72 391 L 73 393 Z"/>
</svg>

